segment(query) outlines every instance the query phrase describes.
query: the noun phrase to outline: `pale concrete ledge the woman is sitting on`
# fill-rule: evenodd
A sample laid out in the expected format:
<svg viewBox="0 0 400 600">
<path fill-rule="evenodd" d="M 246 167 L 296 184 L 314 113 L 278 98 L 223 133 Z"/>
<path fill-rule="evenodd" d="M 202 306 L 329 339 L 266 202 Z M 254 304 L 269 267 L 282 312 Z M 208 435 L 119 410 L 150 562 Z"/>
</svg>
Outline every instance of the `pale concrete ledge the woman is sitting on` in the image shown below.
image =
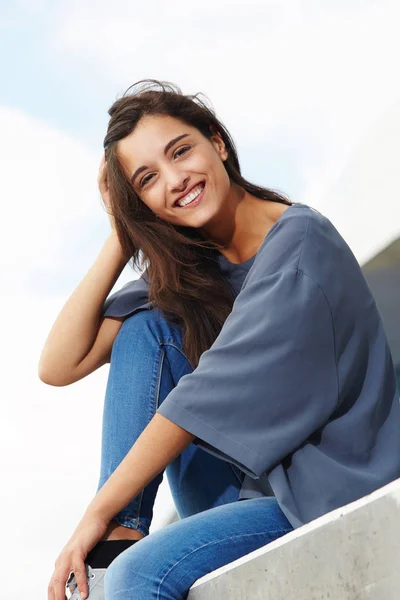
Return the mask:
<svg viewBox="0 0 400 600">
<path fill-rule="evenodd" d="M 400 479 L 198 579 L 188 600 L 398 600 Z"/>
</svg>

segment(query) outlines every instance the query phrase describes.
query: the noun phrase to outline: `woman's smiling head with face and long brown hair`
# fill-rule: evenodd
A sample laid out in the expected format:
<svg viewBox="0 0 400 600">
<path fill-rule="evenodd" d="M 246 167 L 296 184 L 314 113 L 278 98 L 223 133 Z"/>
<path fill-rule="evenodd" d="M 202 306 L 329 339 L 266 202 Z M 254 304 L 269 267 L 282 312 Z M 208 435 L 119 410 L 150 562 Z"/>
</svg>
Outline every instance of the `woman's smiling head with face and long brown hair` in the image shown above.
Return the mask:
<svg viewBox="0 0 400 600">
<path fill-rule="evenodd" d="M 243 262 L 254 255 L 265 225 L 275 220 L 276 209 L 269 205 L 280 209 L 291 202 L 242 177 L 224 125 L 197 96 L 185 96 L 177 86 L 138 82 L 109 113 L 104 146 L 121 245 L 147 270 L 152 303 L 183 326 L 184 351 L 195 367 L 234 301 L 216 258 L 222 253 Z M 194 199 L 190 194 L 199 185 L 204 189 Z M 258 247 L 252 239 L 241 254 L 233 221 L 236 209 L 249 201 L 254 209 L 259 204 L 264 222 L 253 230 Z"/>
</svg>

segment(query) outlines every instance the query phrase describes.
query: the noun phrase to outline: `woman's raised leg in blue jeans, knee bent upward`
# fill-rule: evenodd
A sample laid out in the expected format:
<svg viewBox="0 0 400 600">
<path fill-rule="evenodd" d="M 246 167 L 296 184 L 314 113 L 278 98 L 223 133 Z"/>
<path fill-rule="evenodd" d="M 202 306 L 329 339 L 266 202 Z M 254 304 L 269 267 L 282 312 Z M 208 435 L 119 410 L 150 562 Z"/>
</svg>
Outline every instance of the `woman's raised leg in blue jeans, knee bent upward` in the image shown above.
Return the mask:
<svg viewBox="0 0 400 600">
<path fill-rule="evenodd" d="M 158 310 L 142 311 L 122 324 L 114 341 L 107 382 L 100 487 L 128 453 L 158 406 L 179 379 L 192 371 L 182 351 L 182 330 Z M 238 499 L 243 473 L 194 444 L 167 469 L 181 518 Z M 115 522 L 149 534 L 160 473 L 118 515 Z"/>
</svg>

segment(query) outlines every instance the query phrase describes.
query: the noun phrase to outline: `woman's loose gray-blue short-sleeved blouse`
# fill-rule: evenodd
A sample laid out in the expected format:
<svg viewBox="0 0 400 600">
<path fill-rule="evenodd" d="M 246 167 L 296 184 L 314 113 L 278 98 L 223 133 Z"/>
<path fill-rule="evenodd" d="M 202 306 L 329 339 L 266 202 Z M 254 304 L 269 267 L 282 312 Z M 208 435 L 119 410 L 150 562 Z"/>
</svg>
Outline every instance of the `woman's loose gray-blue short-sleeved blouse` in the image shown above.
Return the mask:
<svg viewBox="0 0 400 600">
<path fill-rule="evenodd" d="M 400 403 L 375 300 L 323 215 L 293 204 L 257 254 L 220 257 L 237 296 L 220 334 L 157 412 L 244 473 L 239 499 L 274 494 L 293 527 L 400 477 Z M 105 316 L 151 307 L 146 278 Z"/>
</svg>

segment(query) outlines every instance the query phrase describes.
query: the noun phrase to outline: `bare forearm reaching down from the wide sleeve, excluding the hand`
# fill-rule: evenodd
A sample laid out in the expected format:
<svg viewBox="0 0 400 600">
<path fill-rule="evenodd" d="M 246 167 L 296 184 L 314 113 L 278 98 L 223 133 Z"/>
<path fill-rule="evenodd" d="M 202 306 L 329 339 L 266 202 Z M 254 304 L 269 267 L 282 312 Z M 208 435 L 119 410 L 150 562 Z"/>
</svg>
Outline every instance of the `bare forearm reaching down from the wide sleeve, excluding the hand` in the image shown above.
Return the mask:
<svg viewBox="0 0 400 600">
<path fill-rule="evenodd" d="M 156 413 L 86 513 L 110 521 L 163 471 L 196 436 Z"/>
</svg>

